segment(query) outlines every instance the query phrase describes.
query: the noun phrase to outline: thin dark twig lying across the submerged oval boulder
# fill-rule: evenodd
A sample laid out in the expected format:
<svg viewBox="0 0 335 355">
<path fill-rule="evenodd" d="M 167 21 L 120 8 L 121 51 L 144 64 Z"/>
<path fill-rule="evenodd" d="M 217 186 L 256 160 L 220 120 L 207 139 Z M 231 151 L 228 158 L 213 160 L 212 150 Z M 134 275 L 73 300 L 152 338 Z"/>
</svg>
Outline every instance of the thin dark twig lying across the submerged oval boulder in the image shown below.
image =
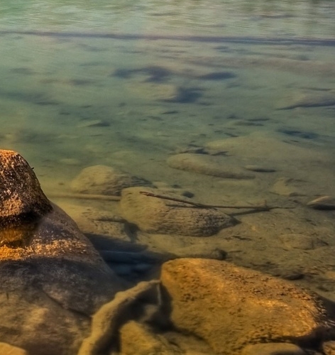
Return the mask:
<svg viewBox="0 0 335 355">
<path fill-rule="evenodd" d="M 158 195 L 154 194 L 153 192 L 148 192 L 148 191 L 140 191 L 140 194 L 148 196 L 148 197 L 156 197 L 162 200 L 170 200 L 170 201 L 175 201 L 175 202 L 182 202 L 185 204 L 190 204 L 194 207 L 199 207 L 199 208 L 231 208 L 231 209 L 260 209 L 262 211 L 270 211 L 270 209 L 293 209 L 295 207 L 280 207 L 280 206 L 268 206 L 266 201 L 264 201 L 264 204 L 260 205 L 229 205 L 229 204 L 203 204 L 199 202 L 192 202 L 188 200 L 183 200 L 177 197 L 168 197 L 165 195 Z"/>
</svg>

